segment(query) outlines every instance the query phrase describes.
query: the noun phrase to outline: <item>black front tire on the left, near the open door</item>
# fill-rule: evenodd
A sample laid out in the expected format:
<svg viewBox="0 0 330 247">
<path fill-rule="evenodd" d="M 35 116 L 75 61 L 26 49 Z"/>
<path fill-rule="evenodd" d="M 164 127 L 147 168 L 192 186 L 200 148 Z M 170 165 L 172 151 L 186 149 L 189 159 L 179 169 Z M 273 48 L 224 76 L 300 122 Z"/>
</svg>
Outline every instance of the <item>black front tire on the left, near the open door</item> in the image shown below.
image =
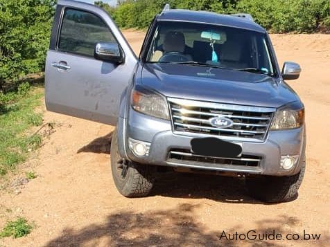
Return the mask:
<svg viewBox="0 0 330 247">
<path fill-rule="evenodd" d="M 126 197 L 147 196 L 155 183 L 155 167 L 125 161 L 118 152 L 117 129 L 112 135 L 110 156 L 117 190 Z"/>
</svg>

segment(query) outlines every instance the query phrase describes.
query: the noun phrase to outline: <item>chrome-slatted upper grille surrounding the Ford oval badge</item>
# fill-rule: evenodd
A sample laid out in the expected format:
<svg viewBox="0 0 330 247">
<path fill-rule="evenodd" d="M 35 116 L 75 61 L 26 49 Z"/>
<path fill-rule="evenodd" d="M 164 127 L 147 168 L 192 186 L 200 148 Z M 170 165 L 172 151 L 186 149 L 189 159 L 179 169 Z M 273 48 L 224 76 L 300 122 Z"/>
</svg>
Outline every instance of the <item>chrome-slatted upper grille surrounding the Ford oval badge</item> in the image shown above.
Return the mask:
<svg viewBox="0 0 330 247">
<path fill-rule="evenodd" d="M 173 130 L 216 136 L 264 139 L 275 112 L 274 108 L 218 104 L 196 100 L 168 98 Z M 211 118 L 225 117 L 233 125 L 214 127 Z"/>
</svg>

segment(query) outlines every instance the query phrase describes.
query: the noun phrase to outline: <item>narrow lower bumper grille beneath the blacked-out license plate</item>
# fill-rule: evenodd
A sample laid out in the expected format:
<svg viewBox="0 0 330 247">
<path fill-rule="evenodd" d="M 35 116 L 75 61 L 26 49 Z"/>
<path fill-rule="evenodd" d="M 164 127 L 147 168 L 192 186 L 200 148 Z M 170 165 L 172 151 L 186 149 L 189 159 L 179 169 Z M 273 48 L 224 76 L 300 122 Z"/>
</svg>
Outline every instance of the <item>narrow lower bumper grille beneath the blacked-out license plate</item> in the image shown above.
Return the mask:
<svg viewBox="0 0 330 247">
<path fill-rule="evenodd" d="M 168 154 L 168 161 L 174 163 L 209 163 L 215 165 L 238 165 L 245 167 L 259 167 L 261 162 L 260 156 L 252 156 L 243 154 L 239 158 L 218 158 L 193 154 L 185 149 L 171 149 Z"/>
</svg>

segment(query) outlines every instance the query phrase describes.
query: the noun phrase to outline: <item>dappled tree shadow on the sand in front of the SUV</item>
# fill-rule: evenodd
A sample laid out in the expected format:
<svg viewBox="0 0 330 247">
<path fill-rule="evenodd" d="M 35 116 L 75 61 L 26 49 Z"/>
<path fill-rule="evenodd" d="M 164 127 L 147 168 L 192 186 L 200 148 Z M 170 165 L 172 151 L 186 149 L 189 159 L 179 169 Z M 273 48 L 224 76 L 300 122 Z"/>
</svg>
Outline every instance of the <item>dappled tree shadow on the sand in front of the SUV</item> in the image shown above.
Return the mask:
<svg viewBox="0 0 330 247">
<path fill-rule="evenodd" d="M 194 210 L 201 205 L 181 204 L 171 210 L 145 212 L 119 211 L 110 214 L 104 224 L 93 224 L 80 230 L 64 229 L 60 237 L 49 241 L 48 247 L 54 246 L 283 246 L 281 241 L 264 240 L 227 240 L 223 235 L 226 226 L 218 226 L 217 231 L 209 231 L 194 217 Z M 287 230 L 297 225 L 295 217 L 283 215 L 276 219 L 265 219 L 254 222 L 257 234 L 264 232 L 281 233 L 285 236 L 293 230 Z M 284 229 L 286 227 L 286 229 Z M 235 226 L 226 230 L 229 233 L 246 233 L 243 226 Z M 303 229 L 302 229 L 303 232 Z M 301 234 L 301 232 L 297 232 Z M 312 232 L 310 232 L 312 233 Z M 313 232 L 315 233 L 315 232 Z M 320 232 L 319 232 L 320 233 Z M 301 234 L 302 235 L 302 234 Z M 329 241 L 328 235 L 322 235 L 313 246 L 324 246 Z M 286 242 L 288 244 L 288 242 Z"/>
</svg>

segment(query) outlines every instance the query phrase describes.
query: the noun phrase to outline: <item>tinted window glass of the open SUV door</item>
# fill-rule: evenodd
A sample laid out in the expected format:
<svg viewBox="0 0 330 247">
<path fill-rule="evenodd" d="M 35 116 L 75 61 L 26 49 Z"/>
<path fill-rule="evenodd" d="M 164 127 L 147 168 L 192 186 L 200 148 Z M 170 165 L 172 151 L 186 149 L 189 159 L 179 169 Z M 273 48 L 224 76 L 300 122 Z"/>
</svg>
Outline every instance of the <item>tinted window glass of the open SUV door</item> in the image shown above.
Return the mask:
<svg viewBox="0 0 330 247">
<path fill-rule="evenodd" d="M 116 42 L 100 17 L 82 10 L 65 10 L 58 44 L 60 51 L 94 56 L 98 42 Z"/>
</svg>

